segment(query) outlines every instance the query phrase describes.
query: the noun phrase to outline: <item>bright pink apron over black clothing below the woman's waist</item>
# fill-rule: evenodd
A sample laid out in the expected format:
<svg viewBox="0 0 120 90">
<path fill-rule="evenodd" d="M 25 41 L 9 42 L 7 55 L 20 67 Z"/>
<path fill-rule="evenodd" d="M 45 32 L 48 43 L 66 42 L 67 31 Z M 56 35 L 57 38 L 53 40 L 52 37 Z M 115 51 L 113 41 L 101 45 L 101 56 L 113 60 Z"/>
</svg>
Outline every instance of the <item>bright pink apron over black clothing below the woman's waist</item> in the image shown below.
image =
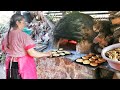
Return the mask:
<svg viewBox="0 0 120 90">
<path fill-rule="evenodd" d="M 34 61 L 34 58 L 30 57 L 29 55 L 16 58 L 7 56 L 5 65 L 6 78 L 37 79 L 36 63 Z"/>
</svg>

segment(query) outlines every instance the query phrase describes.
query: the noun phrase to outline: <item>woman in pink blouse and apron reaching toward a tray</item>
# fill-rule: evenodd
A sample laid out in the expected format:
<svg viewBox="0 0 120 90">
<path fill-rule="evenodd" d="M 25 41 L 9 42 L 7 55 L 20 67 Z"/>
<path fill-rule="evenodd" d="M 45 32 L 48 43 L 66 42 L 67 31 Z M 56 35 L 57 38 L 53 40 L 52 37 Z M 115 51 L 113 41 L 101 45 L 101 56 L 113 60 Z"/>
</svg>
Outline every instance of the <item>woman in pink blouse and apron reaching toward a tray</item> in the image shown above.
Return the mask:
<svg viewBox="0 0 120 90">
<path fill-rule="evenodd" d="M 2 40 L 2 50 L 6 53 L 6 79 L 37 79 L 34 58 L 51 56 L 51 52 L 34 50 L 33 40 L 22 32 L 24 27 L 24 17 L 14 14 L 8 34 Z"/>
</svg>

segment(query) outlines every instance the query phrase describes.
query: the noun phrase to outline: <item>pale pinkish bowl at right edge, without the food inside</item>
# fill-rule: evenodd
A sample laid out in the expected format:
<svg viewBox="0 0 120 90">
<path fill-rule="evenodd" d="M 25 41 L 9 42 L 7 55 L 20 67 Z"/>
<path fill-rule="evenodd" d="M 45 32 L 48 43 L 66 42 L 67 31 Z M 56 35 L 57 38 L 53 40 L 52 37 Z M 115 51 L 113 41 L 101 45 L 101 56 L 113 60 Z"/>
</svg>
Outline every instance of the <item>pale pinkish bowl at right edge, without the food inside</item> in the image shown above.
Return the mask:
<svg viewBox="0 0 120 90">
<path fill-rule="evenodd" d="M 107 60 L 108 64 L 111 66 L 111 68 L 115 69 L 115 70 L 119 70 L 120 71 L 120 61 L 114 61 L 110 58 L 108 58 L 105 53 L 109 50 L 115 49 L 115 48 L 120 48 L 120 43 L 117 44 L 112 44 L 110 46 L 107 46 L 105 48 L 102 49 L 101 52 L 101 56 Z"/>
</svg>

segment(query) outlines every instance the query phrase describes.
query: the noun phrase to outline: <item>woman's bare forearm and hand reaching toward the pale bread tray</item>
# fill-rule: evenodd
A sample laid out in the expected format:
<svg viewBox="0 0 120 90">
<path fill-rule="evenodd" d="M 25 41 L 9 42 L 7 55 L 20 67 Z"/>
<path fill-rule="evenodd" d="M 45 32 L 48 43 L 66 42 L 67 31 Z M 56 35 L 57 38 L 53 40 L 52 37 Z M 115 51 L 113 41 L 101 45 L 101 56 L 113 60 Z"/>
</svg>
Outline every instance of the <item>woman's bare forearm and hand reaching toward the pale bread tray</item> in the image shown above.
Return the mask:
<svg viewBox="0 0 120 90">
<path fill-rule="evenodd" d="M 40 58 L 40 57 L 50 57 L 52 55 L 51 52 L 38 52 L 36 50 L 34 50 L 33 48 L 28 49 L 27 53 L 35 58 Z"/>
</svg>

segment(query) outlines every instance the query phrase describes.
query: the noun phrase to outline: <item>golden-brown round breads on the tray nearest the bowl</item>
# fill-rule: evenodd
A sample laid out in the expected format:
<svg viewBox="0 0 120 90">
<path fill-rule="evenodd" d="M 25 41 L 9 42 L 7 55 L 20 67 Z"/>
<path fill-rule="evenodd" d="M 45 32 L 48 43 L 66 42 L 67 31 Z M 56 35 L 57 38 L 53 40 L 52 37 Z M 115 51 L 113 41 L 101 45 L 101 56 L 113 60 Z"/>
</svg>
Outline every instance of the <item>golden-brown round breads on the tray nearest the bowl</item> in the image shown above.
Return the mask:
<svg viewBox="0 0 120 90">
<path fill-rule="evenodd" d="M 75 61 L 82 64 L 89 64 L 90 66 L 98 66 L 101 63 L 106 62 L 101 55 L 96 55 L 94 53 L 89 53 L 86 56 L 76 59 Z"/>
</svg>

